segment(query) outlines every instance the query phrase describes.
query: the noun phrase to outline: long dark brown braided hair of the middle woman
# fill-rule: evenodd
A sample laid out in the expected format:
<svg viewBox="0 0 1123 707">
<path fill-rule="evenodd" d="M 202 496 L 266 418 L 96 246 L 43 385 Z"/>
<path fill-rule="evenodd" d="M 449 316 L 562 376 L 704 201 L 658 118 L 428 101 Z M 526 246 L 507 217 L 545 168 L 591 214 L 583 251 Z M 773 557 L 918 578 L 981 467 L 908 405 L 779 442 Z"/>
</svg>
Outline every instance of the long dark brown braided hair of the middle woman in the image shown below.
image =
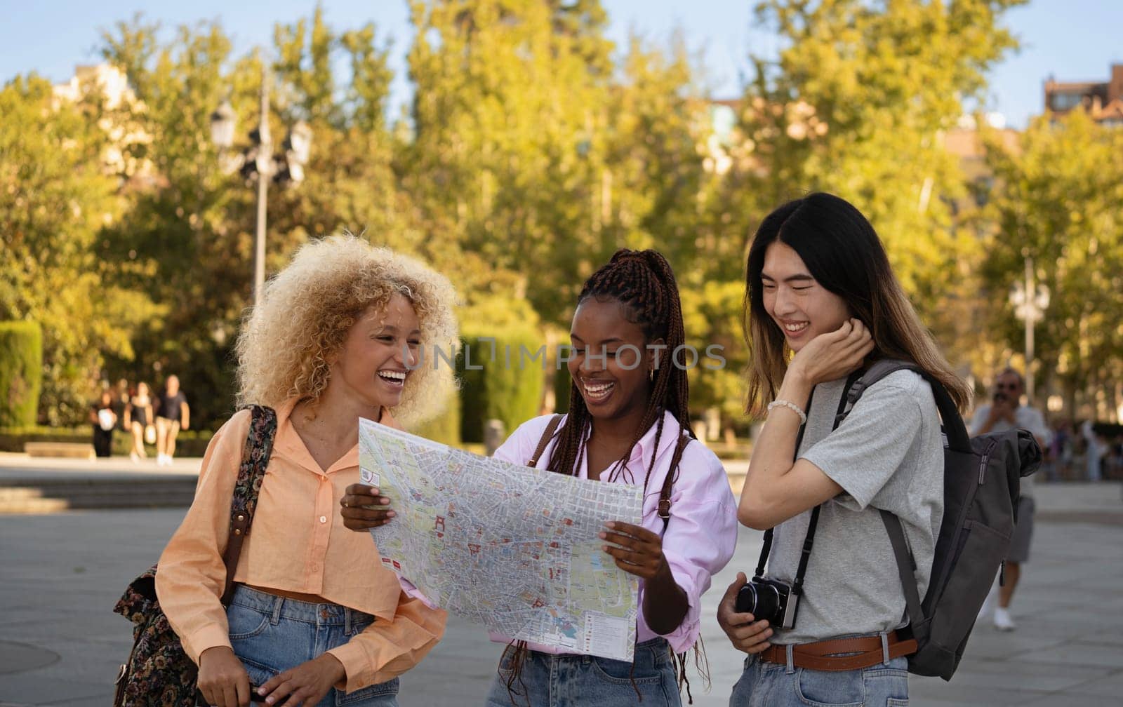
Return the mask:
<svg viewBox="0 0 1123 707">
<path fill-rule="evenodd" d="M 588 299 L 619 301 L 624 305 L 628 321 L 640 327 L 647 341 L 663 339 L 667 345 L 667 355 L 660 357 L 654 371 L 651 395 L 648 397 L 643 419 L 631 444 L 613 465 L 619 470 L 652 424 L 657 425 L 655 448 L 658 449 L 663 437 L 664 411 L 669 411 L 682 429 L 690 432 L 686 370 L 675 366 L 672 360 L 686 340 L 683 305 L 678 300 L 678 285 L 670 264 L 657 250 L 618 250 L 606 265 L 585 281 L 585 286 L 577 295 L 577 305 Z M 559 432 L 560 439 L 546 468 L 557 474 L 576 474 L 591 424 L 592 415 L 577 389 L 577 382 L 574 380 L 569 385 L 569 416 Z M 652 456 L 643 477 L 643 488 L 647 488 L 654 467 Z"/>
</svg>

